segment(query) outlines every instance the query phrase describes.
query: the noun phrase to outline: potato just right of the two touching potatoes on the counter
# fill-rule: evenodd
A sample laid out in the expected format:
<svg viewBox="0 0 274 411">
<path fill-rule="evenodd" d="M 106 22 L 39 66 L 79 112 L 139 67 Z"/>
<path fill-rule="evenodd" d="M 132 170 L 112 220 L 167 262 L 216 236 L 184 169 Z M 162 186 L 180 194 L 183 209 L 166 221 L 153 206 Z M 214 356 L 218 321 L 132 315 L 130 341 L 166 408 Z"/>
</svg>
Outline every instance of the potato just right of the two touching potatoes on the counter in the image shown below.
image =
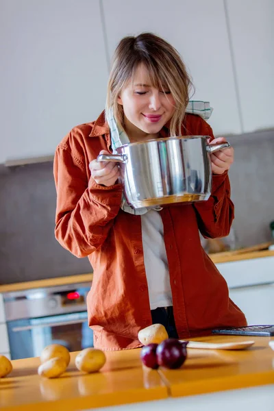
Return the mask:
<svg viewBox="0 0 274 411">
<path fill-rule="evenodd" d="M 105 364 L 105 353 L 101 349 L 86 348 L 79 352 L 75 358 L 75 365 L 79 371 L 95 373 Z"/>
</svg>

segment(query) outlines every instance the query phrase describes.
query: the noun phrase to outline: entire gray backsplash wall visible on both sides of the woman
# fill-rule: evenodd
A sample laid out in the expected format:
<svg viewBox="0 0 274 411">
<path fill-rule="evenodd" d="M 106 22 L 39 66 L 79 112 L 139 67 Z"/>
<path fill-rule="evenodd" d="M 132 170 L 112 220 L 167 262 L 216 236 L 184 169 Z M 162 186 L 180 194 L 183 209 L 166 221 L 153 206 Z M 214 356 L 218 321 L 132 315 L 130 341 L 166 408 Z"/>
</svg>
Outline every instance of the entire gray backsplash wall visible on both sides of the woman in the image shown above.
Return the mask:
<svg viewBox="0 0 274 411">
<path fill-rule="evenodd" d="M 274 220 L 274 132 L 232 136 L 236 160 L 230 171 L 240 246 L 271 239 Z M 52 163 L 0 167 L 0 284 L 89 273 L 54 238 Z"/>
</svg>

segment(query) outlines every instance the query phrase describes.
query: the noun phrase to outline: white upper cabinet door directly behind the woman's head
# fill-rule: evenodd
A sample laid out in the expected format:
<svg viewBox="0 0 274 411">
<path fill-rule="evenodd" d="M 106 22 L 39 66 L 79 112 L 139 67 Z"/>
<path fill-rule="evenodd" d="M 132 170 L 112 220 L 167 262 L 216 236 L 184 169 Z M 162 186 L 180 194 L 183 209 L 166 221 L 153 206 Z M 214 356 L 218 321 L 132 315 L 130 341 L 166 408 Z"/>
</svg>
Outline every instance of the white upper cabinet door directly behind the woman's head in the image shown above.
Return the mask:
<svg viewBox="0 0 274 411">
<path fill-rule="evenodd" d="M 123 36 L 154 32 L 182 54 L 194 99 L 209 100 L 215 134 L 240 133 L 223 1 L 103 0 L 109 56 Z"/>
</svg>

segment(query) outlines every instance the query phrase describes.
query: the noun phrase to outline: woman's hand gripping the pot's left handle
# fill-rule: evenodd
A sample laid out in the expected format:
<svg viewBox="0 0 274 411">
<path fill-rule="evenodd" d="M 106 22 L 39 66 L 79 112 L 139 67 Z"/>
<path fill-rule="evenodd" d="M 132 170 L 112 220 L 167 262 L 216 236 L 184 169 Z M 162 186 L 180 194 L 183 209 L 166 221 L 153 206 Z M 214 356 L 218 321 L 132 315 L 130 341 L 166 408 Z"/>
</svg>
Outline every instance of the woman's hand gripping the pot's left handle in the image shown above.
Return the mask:
<svg viewBox="0 0 274 411">
<path fill-rule="evenodd" d="M 99 154 L 109 154 L 108 151 L 101 150 Z M 92 160 L 89 164 L 91 176 L 97 184 L 101 186 L 114 186 L 120 176 L 120 170 L 116 162 Z"/>
</svg>

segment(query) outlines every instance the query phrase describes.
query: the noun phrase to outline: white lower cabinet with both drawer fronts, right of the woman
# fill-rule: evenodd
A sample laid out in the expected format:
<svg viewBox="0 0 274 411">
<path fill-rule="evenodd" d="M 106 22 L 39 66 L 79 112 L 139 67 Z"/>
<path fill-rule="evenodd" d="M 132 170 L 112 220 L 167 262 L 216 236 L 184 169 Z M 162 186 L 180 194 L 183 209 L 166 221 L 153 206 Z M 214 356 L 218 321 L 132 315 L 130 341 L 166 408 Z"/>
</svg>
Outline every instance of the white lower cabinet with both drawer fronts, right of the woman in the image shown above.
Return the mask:
<svg viewBox="0 0 274 411">
<path fill-rule="evenodd" d="M 216 264 L 249 325 L 274 324 L 274 257 Z"/>
</svg>

